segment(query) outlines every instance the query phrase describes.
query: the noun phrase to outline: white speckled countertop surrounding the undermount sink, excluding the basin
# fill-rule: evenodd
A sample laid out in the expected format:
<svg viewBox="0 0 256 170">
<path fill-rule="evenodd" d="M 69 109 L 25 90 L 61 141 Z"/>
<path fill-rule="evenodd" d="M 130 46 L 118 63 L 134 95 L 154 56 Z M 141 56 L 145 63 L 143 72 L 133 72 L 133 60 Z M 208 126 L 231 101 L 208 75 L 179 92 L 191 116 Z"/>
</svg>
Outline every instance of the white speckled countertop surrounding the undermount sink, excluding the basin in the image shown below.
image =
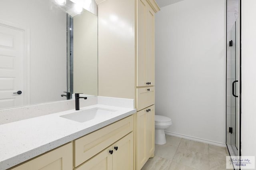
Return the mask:
<svg viewBox="0 0 256 170">
<path fill-rule="evenodd" d="M 79 123 L 60 117 L 75 110 L 34 117 L 0 125 L 0 170 L 5 170 L 44 152 L 66 144 L 106 125 L 136 113 L 136 109 L 109 105 L 91 105 L 116 110 L 106 117 Z"/>
</svg>

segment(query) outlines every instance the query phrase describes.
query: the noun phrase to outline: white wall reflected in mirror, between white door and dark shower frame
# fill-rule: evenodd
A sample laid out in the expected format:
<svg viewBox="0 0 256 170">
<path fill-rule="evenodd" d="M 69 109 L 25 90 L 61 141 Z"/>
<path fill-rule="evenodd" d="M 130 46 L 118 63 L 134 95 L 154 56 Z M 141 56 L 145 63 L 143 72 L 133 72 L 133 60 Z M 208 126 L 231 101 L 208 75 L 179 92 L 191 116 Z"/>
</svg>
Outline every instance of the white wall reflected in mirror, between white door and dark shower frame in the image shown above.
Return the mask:
<svg viewBox="0 0 256 170">
<path fill-rule="evenodd" d="M 67 89 L 66 13 L 50 0 L 6 0 L 1 1 L 0 20 L 29 29 L 28 104 L 64 100 L 60 95 Z"/>
</svg>

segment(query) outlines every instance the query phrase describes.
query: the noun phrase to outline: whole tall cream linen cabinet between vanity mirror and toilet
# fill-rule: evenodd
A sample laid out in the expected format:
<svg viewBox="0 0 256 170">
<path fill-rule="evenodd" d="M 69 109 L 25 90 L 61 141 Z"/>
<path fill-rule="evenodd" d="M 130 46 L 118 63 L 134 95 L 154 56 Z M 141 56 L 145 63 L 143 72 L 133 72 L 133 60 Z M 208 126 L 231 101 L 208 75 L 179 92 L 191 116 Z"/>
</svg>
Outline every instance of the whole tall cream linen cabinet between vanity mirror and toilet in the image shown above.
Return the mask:
<svg viewBox="0 0 256 170">
<path fill-rule="evenodd" d="M 98 95 L 135 99 L 134 169 L 154 156 L 155 0 L 96 0 Z"/>
</svg>

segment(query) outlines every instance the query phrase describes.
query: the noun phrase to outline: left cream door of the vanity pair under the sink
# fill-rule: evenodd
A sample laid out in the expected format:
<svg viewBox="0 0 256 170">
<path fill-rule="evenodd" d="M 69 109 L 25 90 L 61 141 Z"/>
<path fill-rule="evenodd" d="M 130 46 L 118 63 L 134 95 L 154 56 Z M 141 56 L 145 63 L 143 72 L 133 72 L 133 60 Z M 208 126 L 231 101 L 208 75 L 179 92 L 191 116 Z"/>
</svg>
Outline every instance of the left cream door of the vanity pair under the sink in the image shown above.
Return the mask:
<svg viewBox="0 0 256 170">
<path fill-rule="evenodd" d="M 109 146 L 74 170 L 112 170 L 112 146 Z"/>
</svg>

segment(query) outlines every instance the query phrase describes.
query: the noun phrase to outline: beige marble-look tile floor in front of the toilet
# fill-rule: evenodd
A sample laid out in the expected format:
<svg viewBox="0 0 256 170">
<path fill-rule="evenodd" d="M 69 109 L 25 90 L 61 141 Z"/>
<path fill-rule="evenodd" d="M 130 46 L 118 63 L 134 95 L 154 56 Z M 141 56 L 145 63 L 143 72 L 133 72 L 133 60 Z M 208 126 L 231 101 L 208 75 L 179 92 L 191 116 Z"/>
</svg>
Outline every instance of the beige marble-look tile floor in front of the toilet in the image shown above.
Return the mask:
<svg viewBox="0 0 256 170">
<path fill-rule="evenodd" d="M 226 170 L 226 148 L 166 135 L 142 170 Z"/>
</svg>

